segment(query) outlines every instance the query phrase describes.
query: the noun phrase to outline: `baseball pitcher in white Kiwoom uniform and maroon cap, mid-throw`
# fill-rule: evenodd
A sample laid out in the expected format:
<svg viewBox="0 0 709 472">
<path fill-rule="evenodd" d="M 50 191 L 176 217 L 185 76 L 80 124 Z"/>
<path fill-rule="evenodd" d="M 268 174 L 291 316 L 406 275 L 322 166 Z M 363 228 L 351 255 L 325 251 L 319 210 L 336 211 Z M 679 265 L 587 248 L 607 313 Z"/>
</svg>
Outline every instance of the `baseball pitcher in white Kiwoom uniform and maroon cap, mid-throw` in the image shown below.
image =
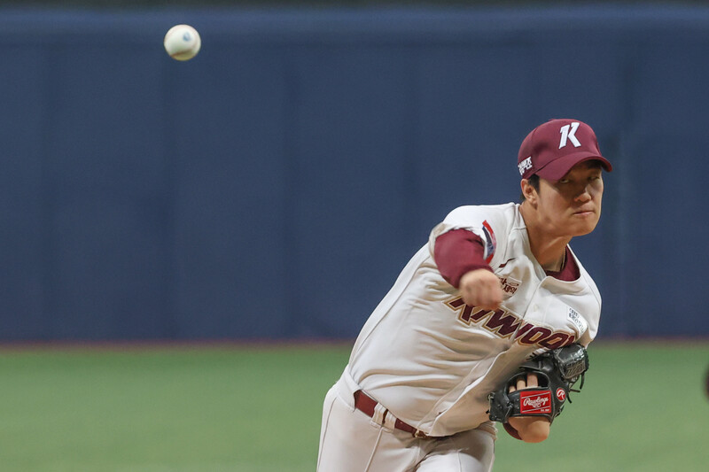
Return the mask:
<svg viewBox="0 0 709 472">
<path fill-rule="evenodd" d="M 518 170 L 521 204 L 453 210 L 371 313 L 324 400 L 319 471 L 489 471 L 495 423 L 543 441 L 580 390 L 601 297 L 569 243 L 612 166 L 587 124 L 549 120 Z"/>
</svg>

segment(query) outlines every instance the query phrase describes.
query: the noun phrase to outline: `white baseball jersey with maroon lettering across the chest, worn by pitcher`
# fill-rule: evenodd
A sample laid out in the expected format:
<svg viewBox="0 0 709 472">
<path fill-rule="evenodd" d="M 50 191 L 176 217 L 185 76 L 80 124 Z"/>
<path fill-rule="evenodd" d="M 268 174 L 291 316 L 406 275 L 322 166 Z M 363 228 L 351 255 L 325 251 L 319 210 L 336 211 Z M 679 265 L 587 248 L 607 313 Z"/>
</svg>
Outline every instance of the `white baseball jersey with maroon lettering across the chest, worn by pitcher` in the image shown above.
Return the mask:
<svg viewBox="0 0 709 472">
<path fill-rule="evenodd" d="M 464 228 L 485 243 L 502 283 L 500 309 L 466 306 L 433 260 L 437 236 Z M 572 252 L 573 255 L 573 252 Z M 580 277 L 546 275 L 534 259 L 519 205 L 461 206 L 433 228 L 371 314 L 346 374 L 403 422 L 448 436 L 487 422 L 487 394 L 531 355 L 596 337 L 601 297 Z"/>
</svg>

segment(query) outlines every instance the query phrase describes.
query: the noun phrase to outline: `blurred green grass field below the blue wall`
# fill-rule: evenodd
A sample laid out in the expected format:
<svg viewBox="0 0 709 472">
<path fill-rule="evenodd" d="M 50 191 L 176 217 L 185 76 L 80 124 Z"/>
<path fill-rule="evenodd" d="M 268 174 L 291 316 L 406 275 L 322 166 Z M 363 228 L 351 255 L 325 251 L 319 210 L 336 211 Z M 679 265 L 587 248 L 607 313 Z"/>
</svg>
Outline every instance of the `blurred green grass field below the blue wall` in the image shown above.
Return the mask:
<svg viewBox="0 0 709 472">
<path fill-rule="evenodd" d="M 5 349 L 3 472 L 313 471 L 349 345 Z M 709 469 L 709 344 L 601 344 L 551 437 L 495 472 Z"/>
</svg>

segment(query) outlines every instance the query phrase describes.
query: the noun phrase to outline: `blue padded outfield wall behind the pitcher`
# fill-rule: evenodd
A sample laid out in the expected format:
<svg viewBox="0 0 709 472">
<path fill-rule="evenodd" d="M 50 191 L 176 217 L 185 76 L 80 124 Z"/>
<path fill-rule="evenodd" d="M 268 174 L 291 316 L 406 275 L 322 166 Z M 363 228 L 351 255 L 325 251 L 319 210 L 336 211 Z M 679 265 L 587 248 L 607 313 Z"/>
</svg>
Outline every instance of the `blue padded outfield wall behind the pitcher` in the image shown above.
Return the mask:
<svg viewBox="0 0 709 472">
<path fill-rule="evenodd" d="M 0 10 L 0 84 L 0 340 L 352 338 L 566 117 L 599 336 L 709 336 L 707 8 Z"/>
</svg>

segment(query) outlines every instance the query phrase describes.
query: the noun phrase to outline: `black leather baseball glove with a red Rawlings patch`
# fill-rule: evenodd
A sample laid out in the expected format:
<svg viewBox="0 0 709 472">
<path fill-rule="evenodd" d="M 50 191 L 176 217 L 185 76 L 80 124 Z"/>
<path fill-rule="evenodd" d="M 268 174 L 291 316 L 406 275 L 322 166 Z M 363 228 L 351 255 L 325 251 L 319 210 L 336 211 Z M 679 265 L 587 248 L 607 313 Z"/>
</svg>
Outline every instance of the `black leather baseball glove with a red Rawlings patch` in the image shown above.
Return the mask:
<svg viewBox="0 0 709 472">
<path fill-rule="evenodd" d="M 506 425 L 510 416 L 546 416 L 553 422 L 564 409 L 570 391 L 583 388 L 585 372 L 588 370 L 588 352 L 580 344 L 571 344 L 553 351 L 544 352 L 527 360 L 518 372 L 510 377 L 503 388 L 487 396 L 490 402 L 489 414 L 493 422 Z M 534 373 L 539 378 L 539 387 L 510 391 L 510 385 L 517 385 L 519 378 Z M 573 384 L 579 378 L 579 390 Z M 569 398 L 571 403 L 571 398 Z"/>
</svg>

